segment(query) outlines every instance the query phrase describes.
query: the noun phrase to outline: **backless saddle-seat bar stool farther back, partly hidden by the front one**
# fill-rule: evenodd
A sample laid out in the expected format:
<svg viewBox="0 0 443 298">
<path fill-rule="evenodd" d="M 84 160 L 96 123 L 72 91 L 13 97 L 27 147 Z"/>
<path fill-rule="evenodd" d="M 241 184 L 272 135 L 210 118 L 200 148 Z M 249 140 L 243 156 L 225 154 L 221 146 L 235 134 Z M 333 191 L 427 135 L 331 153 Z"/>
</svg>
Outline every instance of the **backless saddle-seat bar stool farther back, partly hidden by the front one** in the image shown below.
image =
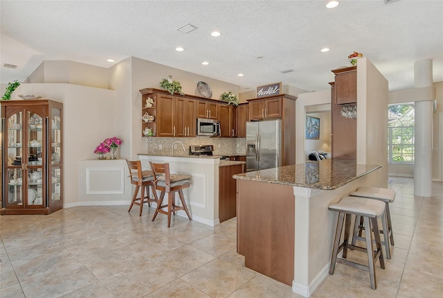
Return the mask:
<svg viewBox="0 0 443 298">
<path fill-rule="evenodd" d="M 382 228 L 380 233 L 383 234 L 382 245 L 385 245 L 386 258 L 390 258 L 390 245 L 394 245 L 394 234 L 392 233 L 392 222 L 390 219 L 389 204 L 395 200 L 395 191 L 392 189 L 383 189 L 379 187 L 360 187 L 353 193 L 352 197 L 368 198 L 372 200 L 379 200 L 386 204 L 386 220 L 381 221 Z M 356 218 L 356 225 L 354 225 L 354 236 L 352 237 L 352 244 L 355 244 L 356 239 L 361 239 L 364 225 L 361 218 Z"/>
</svg>

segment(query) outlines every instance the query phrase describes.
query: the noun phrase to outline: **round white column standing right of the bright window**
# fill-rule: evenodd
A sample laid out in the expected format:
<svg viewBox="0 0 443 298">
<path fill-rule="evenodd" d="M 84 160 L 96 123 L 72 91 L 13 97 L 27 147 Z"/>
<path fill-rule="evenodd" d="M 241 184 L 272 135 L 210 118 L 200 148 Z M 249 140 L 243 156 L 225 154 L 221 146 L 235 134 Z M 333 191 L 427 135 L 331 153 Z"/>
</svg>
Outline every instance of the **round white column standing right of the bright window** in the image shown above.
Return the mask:
<svg viewBox="0 0 443 298">
<path fill-rule="evenodd" d="M 431 87 L 432 60 L 414 64 L 414 87 Z M 431 197 L 433 98 L 417 98 L 415 102 L 414 195 Z"/>
</svg>

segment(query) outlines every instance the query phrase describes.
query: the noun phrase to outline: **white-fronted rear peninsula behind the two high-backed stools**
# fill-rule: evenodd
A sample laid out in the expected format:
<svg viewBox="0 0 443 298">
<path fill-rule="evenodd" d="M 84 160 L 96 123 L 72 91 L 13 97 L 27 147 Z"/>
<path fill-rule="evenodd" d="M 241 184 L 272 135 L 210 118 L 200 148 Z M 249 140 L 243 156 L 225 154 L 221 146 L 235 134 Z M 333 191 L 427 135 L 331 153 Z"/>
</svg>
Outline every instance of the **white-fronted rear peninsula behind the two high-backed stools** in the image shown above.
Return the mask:
<svg viewBox="0 0 443 298">
<path fill-rule="evenodd" d="M 224 210 L 226 206 L 232 206 L 232 204 L 224 204 L 225 197 L 227 200 L 229 198 L 235 200 L 235 186 L 231 187 L 233 189 L 232 194 L 219 192 L 219 182 L 224 181 L 223 178 L 226 175 L 223 173 L 227 168 L 232 170 L 235 168 L 237 173 L 242 173 L 246 164 L 244 161 L 220 160 L 220 157 L 217 155 L 193 156 L 187 155 L 187 153 L 179 156 L 138 154 L 138 158 L 145 169 L 150 169 L 149 161 L 154 163 L 168 162 L 171 173 L 191 175 L 191 186 L 183 190 L 186 204 L 188 204 L 188 209 L 192 214 L 192 220 L 210 226 L 218 225 L 220 221 L 226 219 L 226 216 L 223 216 L 226 213 L 235 214 L 235 210 L 230 210 L 230 212 Z M 229 178 L 233 180 L 232 175 Z M 228 180 L 223 184 L 235 184 L 235 181 Z M 220 204 L 220 202 L 222 203 Z M 186 213 L 183 211 L 177 213 L 186 217 Z"/>
</svg>

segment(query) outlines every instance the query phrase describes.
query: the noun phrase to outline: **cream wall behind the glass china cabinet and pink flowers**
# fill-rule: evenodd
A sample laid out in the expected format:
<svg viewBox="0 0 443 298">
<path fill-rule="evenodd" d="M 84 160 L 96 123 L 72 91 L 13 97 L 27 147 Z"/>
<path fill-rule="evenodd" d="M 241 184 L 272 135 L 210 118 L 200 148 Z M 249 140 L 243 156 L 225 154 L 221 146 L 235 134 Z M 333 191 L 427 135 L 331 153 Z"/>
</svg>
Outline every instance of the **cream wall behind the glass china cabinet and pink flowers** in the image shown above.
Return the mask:
<svg viewBox="0 0 443 298">
<path fill-rule="evenodd" d="M 95 159 L 96 146 L 116 130 L 114 119 L 109 117 L 115 114 L 116 91 L 71 84 L 22 84 L 12 98 L 17 94 L 35 94 L 63 103 L 64 204 L 77 202 L 79 161 Z"/>
</svg>

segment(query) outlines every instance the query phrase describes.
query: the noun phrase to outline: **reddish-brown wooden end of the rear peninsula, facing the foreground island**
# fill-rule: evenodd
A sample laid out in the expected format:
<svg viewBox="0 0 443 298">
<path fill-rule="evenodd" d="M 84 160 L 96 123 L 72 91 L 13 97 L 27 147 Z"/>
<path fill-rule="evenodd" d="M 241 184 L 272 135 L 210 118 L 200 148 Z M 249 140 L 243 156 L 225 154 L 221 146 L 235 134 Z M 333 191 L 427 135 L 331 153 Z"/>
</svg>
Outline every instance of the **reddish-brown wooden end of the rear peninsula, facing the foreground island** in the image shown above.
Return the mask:
<svg viewBox="0 0 443 298">
<path fill-rule="evenodd" d="M 243 173 L 244 165 L 219 166 L 219 220 L 237 216 L 237 182 L 233 175 Z"/>
</svg>

